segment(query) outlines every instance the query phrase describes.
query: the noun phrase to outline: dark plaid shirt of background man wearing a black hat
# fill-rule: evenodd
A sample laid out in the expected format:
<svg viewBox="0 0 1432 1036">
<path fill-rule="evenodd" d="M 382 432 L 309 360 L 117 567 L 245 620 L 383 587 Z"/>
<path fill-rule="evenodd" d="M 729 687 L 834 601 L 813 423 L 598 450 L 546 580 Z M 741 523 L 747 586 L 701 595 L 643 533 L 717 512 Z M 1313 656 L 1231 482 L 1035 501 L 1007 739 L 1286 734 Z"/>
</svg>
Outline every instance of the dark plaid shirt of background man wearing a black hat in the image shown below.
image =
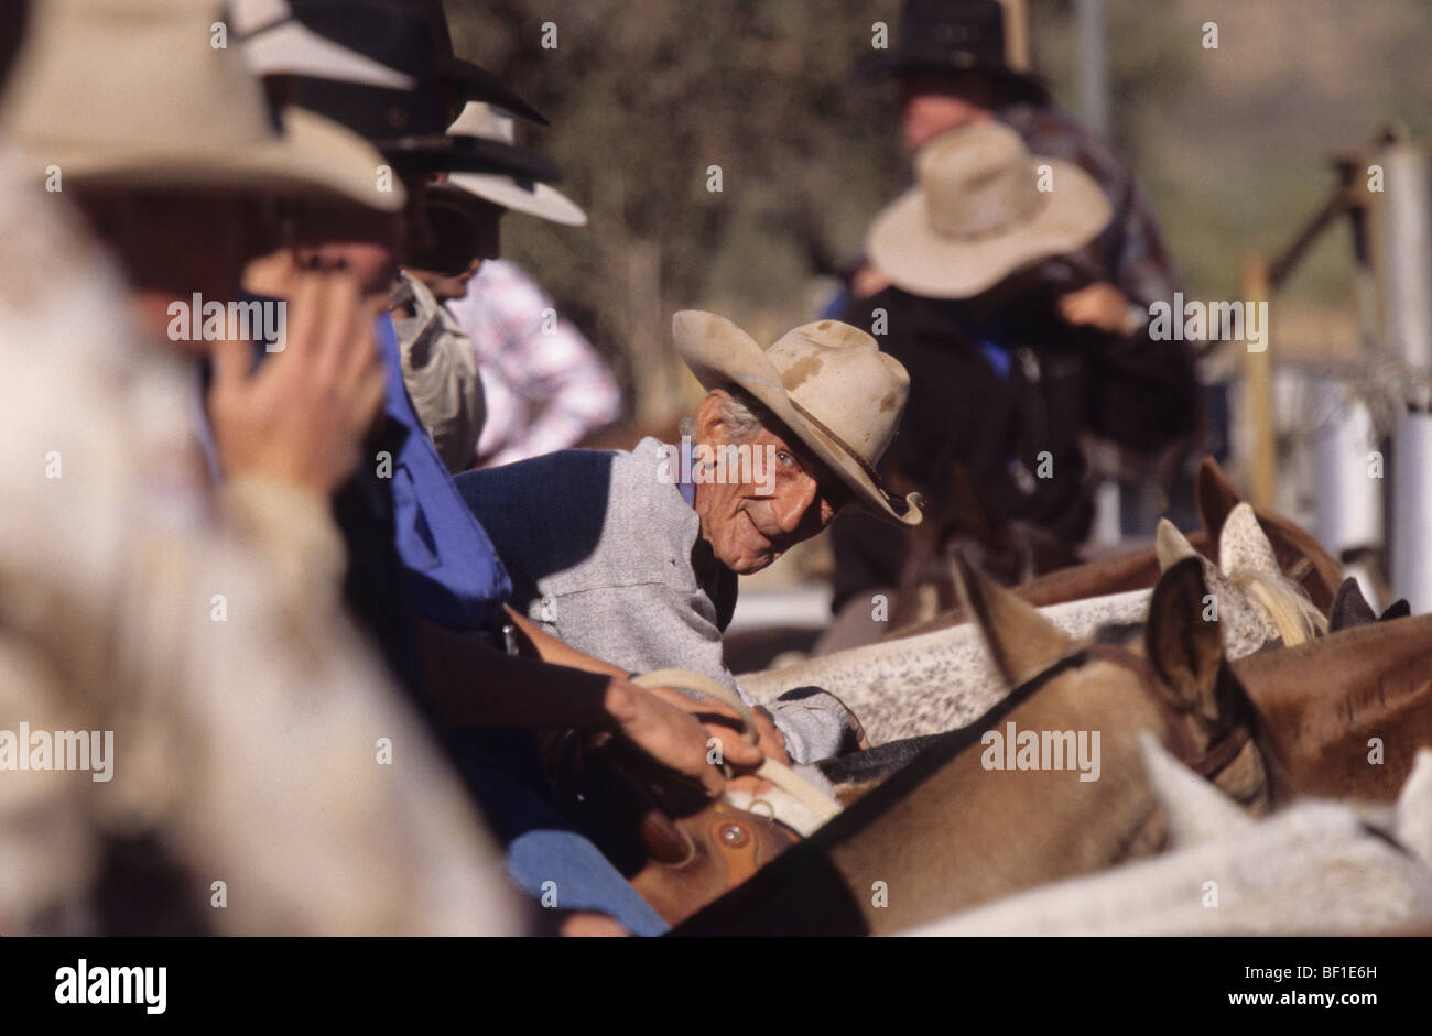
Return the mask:
<svg viewBox="0 0 1432 1036">
<path fill-rule="evenodd" d="M 1179 278 L 1154 207 L 1114 149 L 1055 107 L 1012 104 L 1001 109 L 998 117 L 1024 137 L 1032 155 L 1073 162 L 1104 189 L 1114 216 L 1077 258 L 1103 272 L 1140 308 L 1171 299 Z"/>
</svg>

